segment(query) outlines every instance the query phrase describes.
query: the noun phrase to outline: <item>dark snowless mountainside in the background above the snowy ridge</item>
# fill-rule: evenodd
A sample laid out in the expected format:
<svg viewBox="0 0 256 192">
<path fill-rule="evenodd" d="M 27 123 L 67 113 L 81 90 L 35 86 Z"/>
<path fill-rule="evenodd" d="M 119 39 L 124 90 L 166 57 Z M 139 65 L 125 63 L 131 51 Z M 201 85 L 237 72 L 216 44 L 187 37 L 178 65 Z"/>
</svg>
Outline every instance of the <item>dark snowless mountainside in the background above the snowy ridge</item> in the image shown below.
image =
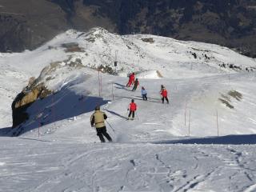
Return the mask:
<svg viewBox="0 0 256 192">
<path fill-rule="evenodd" d="M 256 57 L 255 10 L 254 0 L 5 0 L 0 51 L 34 49 L 66 29 L 102 26 L 216 43 Z"/>
</svg>

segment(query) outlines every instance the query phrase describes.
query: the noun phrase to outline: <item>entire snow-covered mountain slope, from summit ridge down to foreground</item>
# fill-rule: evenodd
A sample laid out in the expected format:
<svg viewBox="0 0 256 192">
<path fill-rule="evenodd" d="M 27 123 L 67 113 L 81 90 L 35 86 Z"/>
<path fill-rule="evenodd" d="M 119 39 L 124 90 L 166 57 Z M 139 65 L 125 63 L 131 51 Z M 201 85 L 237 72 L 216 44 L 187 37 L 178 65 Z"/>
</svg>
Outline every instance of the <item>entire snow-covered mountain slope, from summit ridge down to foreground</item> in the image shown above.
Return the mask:
<svg viewBox="0 0 256 192">
<path fill-rule="evenodd" d="M 2 191 L 256 190 L 253 58 L 212 44 L 94 28 L 1 54 L 0 67 Z M 135 92 L 126 87 L 130 72 L 140 82 Z M 29 106 L 29 118 L 11 130 L 11 103 L 32 76 L 54 94 Z M 162 104 L 160 85 L 170 105 Z M 138 111 L 126 121 L 132 98 Z M 90 127 L 98 104 L 113 145 L 99 144 Z M 193 143 L 204 145 L 183 145 Z"/>
</svg>

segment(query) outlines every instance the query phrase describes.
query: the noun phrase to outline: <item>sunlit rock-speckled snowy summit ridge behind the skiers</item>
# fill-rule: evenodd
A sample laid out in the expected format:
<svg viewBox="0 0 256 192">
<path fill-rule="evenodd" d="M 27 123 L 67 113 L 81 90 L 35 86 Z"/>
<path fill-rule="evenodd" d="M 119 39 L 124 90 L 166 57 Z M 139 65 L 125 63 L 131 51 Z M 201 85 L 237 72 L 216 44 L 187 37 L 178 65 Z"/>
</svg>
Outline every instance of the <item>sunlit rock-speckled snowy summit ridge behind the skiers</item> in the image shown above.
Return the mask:
<svg viewBox="0 0 256 192">
<path fill-rule="evenodd" d="M 65 48 L 70 43 L 76 44 L 77 49 Z M 30 59 L 33 62 L 31 65 L 40 63 L 46 66 L 49 62 L 62 62 L 71 57 L 74 60 L 81 59 L 84 66 L 109 66 L 120 74 L 158 70 L 166 78 L 198 77 L 219 74 L 229 69 L 254 70 L 256 63 L 255 59 L 222 46 L 182 42 L 148 34 L 121 36 L 102 28 L 93 28 L 87 33 L 68 30 L 33 53 L 37 58 L 38 54 L 35 53 L 40 53 L 45 62 Z M 27 54 L 33 58 L 32 53 Z M 118 62 L 117 67 L 114 66 L 115 61 Z"/>
</svg>

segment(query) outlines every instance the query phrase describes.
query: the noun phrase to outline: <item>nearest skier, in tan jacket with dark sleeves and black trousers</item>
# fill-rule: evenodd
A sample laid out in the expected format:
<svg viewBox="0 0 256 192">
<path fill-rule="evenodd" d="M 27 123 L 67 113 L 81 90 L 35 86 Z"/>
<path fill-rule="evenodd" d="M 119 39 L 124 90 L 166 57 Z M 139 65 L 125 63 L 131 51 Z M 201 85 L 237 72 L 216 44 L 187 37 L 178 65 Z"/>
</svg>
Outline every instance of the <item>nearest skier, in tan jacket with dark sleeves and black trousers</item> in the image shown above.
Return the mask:
<svg viewBox="0 0 256 192">
<path fill-rule="evenodd" d="M 96 106 L 94 114 L 90 116 L 90 125 L 92 127 L 95 126 L 97 135 L 101 140 L 101 142 L 105 142 L 103 135 L 107 138 L 107 140 L 109 140 L 109 142 L 112 142 L 112 138 L 110 138 L 110 135 L 106 133 L 106 125 L 104 123 L 104 120 L 106 118 L 107 118 L 106 114 L 100 110 L 99 106 Z"/>
</svg>

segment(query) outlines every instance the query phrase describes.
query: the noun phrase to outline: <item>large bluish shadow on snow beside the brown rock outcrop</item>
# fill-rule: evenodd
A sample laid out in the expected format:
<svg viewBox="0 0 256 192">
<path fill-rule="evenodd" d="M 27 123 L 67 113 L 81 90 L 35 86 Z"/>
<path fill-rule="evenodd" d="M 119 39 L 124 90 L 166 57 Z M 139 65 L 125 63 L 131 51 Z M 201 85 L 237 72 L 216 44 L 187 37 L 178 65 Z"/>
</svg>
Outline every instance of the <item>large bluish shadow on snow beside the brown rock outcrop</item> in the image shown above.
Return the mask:
<svg viewBox="0 0 256 192">
<path fill-rule="evenodd" d="M 10 127 L 0 129 L 0 137 L 18 136 L 40 126 L 74 118 L 80 114 L 94 111 L 95 106 L 102 106 L 107 102 L 103 98 L 75 94 L 69 89 L 60 90 L 57 94 L 34 102 L 26 110 L 30 118 L 14 129 Z"/>
</svg>

